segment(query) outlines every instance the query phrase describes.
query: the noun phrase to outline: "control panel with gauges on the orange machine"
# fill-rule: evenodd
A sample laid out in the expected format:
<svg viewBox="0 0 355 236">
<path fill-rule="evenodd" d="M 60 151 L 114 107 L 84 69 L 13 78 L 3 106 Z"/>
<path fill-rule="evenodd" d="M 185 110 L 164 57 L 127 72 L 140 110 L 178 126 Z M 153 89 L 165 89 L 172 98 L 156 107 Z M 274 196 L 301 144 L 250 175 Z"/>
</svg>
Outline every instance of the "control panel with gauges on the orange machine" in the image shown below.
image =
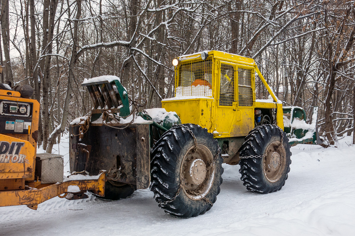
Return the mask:
<svg viewBox="0 0 355 236">
<path fill-rule="evenodd" d="M 5 116 L 31 117 L 32 103 L 24 103 L 17 101 L 0 102 L 0 114 Z"/>
</svg>

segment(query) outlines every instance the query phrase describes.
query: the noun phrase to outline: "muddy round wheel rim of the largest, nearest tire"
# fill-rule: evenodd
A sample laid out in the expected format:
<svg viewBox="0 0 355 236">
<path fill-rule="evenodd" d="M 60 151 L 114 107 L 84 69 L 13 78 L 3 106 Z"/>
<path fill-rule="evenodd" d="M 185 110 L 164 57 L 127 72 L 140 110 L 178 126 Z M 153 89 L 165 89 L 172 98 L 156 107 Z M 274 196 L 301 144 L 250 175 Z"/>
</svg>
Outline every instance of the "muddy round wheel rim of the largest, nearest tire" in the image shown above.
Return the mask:
<svg viewBox="0 0 355 236">
<path fill-rule="evenodd" d="M 180 182 L 186 196 L 192 200 L 205 197 L 212 187 L 215 164 L 208 147 L 198 145 L 190 147 L 181 162 Z M 212 164 L 213 163 L 213 164 Z"/>
</svg>

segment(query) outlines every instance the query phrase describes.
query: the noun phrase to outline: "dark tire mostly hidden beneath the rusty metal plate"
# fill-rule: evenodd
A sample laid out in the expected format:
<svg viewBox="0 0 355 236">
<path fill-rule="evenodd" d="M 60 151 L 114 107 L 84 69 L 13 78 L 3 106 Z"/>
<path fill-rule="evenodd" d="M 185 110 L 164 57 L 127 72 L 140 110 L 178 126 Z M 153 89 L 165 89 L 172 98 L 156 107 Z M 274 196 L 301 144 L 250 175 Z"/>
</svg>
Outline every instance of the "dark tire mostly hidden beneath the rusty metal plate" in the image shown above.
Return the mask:
<svg viewBox="0 0 355 236">
<path fill-rule="evenodd" d="M 116 186 L 118 185 L 118 186 Z M 97 198 L 104 199 L 104 200 L 119 200 L 121 198 L 126 198 L 132 195 L 132 193 L 137 190 L 136 185 L 129 185 L 129 184 L 111 184 L 111 182 L 106 181 L 105 183 L 105 196 L 98 196 L 95 195 L 92 191 L 89 191 Z"/>
</svg>

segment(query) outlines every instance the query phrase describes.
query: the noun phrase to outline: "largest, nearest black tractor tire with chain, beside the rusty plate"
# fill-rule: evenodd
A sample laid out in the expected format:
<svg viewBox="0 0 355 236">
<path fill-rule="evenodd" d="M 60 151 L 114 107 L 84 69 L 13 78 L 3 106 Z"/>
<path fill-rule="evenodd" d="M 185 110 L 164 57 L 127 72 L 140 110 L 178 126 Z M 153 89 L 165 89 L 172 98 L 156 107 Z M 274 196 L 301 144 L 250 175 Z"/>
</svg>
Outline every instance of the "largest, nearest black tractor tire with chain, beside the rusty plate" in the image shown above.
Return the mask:
<svg viewBox="0 0 355 236">
<path fill-rule="evenodd" d="M 196 151 L 189 130 L 196 137 Z M 223 159 L 217 140 L 207 129 L 175 125 L 157 141 L 151 156 L 149 188 L 160 208 L 179 218 L 196 217 L 211 209 L 222 184 Z"/>
</svg>

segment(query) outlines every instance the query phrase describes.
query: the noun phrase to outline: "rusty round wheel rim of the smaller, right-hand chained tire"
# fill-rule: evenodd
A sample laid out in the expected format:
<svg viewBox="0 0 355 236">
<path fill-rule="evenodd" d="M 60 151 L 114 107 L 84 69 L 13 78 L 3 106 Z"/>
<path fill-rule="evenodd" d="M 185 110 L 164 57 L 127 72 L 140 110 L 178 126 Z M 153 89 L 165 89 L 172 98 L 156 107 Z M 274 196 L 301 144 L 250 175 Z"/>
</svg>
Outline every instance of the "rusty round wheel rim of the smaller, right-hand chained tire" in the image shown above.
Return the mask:
<svg viewBox="0 0 355 236">
<path fill-rule="evenodd" d="M 269 182 L 278 181 L 286 166 L 286 150 L 280 141 L 269 144 L 263 157 L 263 172 Z"/>
</svg>

